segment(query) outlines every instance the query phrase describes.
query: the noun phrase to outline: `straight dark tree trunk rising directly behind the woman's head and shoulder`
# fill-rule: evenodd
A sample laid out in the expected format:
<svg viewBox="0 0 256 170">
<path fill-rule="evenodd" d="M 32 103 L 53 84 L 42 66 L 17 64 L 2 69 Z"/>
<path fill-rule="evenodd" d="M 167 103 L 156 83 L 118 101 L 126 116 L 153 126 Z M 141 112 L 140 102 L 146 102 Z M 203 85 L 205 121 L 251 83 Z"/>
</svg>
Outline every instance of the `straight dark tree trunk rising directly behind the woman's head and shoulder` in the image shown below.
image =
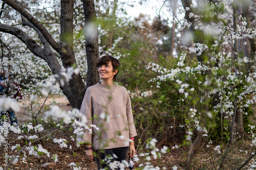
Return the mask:
<svg viewBox="0 0 256 170">
<path fill-rule="evenodd" d="M 99 60 L 99 45 L 98 45 L 98 25 L 93 0 L 82 0 L 85 27 L 88 25 L 95 26 L 95 35 L 86 33 L 86 57 L 87 57 L 87 80 L 86 89 L 99 82 L 98 68 L 96 64 Z"/>
</svg>

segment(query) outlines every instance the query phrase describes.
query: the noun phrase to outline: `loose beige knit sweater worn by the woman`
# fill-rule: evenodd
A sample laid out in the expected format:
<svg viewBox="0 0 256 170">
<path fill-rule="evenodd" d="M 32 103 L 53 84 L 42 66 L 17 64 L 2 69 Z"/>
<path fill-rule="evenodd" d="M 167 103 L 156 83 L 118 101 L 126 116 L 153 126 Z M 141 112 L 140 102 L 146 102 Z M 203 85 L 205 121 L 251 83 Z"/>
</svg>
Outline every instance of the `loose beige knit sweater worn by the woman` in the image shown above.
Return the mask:
<svg viewBox="0 0 256 170">
<path fill-rule="evenodd" d="M 94 124 L 99 130 L 92 128 L 93 134 L 77 135 L 77 141 L 92 143 L 96 150 L 129 147 L 129 139 L 137 136 L 129 94 L 116 83 L 89 87 L 80 112 L 86 115 L 87 125 Z"/>
</svg>

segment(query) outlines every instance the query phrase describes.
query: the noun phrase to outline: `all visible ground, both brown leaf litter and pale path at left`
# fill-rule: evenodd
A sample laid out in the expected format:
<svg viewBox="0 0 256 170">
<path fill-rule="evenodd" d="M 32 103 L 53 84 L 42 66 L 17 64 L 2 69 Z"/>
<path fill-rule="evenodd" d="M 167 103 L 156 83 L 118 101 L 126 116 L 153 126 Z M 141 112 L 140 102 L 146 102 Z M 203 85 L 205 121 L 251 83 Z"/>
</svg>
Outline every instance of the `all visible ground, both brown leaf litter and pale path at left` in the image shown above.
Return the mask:
<svg viewBox="0 0 256 170">
<path fill-rule="evenodd" d="M 44 103 L 44 99 L 40 99 L 39 101 L 41 104 Z M 56 104 L 63 110 L 72 109 L 69 105 L 68 100 L 64 96 L 52 96 L 46 101 L 46 104 L 49 105 L 52 101 L 55 101 Z M 23 103 L 24 102 L 25 101 L 23 101 Z M 22 105 L 22 103 L 20 103 L 20 105 Z M 39 109 L 40 107 L 34 108 L 34 110 Z M 26 122 L 26 120 L 29 119 L 27 111 L 24 108 L 16 114 L 18 117 L 19 124 L 22 124 L 23 122 Z M 54 130 L 54 128 L 56 127 L 52 126 L 49 129 L 47 129 L 44 133 L 41 133 L 40 135 L 45 135 L 51 130 Z M 47 140 L 45 138 L 37 142 L 37 144 L 41 144 L 43 148 L 47 149 L 51 153 L 50 157 L 47 157 L 46 155 L 41 155 L 40 158 L 38 158 L 35 156 L 27 155 L 28 157 L 26 160 L 19 159 L 19 161 L 16 164 L 12 164 L 10 166 L 10 169 L 72 169 L 72 167 L 69 165 L 71 162 L 79 164 L 81 169 L 97 169 L 95 161 L 89 161 L 86 158 L 84 146 L 77 148 L 76 142 L 72 141 L 70 136 L 75 137 L 75 135 L 72 134 L 71 129 L 67 128 L 63 131 L 56 131 L 54 134 L 48 136 L 48 139 L 50 140 Z M 25 145 L 25 140 L 17 141 L 17 137 L 17 134 L 10 134 L 10 146 L 20 144 L 20 146 L 23 147 Z M 51 140 L 53 138 L 67 139 L 68 148 L 60 148 L 58 144 L 54 143 Z M 138 141 L 135 140 L 135 144 L 136 143 L 138 143 Z M 239 141 L 237 143 L 234 143 L 230 153 L 227 156 L 226 161 L 224 162 L 223 169 L 237 169 L 238 167 L 240 167 L 243 164 L 243 162 L 247 160 L 249 157 L 249 154 L 246 154 L 245 151 L 248 151 L 248 153 L 255 152 L 255 150 L 251 151 L 250 144 L 250 140 L 245 140 L 244 142 L 242 142 L 242 144 L 240 144 Z M 169 148 L 170 152 L 167 154 L 162 154 L 162 157 L 157 159 L 154 159 L 151 156 L 151 164 L 154 165 L 155 167 L 160 167 L 160 169 L 162 169 L 163 166 L 165 166 L 166 169 L 173 169 L 173 166 L 178 167 L 178 169 L 185 169 L 188 147 L 179 147 L 178 149 L 172 149 L 172 144 L 166 143 L 165 145 Z M 17 151 L 11 151 L 10 146 L 8 147 L 8 154 L 15 155 Z M 70 149 L 70 146 L 72 149 Z M 219 169 L 218 165 L 221 162 L 221 154 L 219 154 L 218 151 L 214 150 L 215 147 L 215 145 L 211 145 L 209 148 L 202 147 L 194 157 L 193 167 L 191 167 L 191 169 Z M 226 148 L 226 146 L 224 146 L 223 148 Z M 0 147 L 0 151 L 0 166 L 5 168 L 6 166 L 2 163 L 4 162 L 5 154 L 4 152 L 2 152 L 4 151 L 3 145 Z M 137 150 L 137 154 L 139 153 L 141 152 Z M 54 161 L 51 159 L 53 154 L 58 155 L 58 162 L 56 162 L 56 164 L 53 164 L 52 166 L 43 167 L 45 163 L 54 163 Z M 128 160 L 128 158 L 126 160 Z M 138 168 L 141 162 L 146 162 L 143 157 L 140 158 L 140 162 L 135 162 L 134 167 Z M 244 169 L 248 169 L 248 167 Z"/>
</svg>

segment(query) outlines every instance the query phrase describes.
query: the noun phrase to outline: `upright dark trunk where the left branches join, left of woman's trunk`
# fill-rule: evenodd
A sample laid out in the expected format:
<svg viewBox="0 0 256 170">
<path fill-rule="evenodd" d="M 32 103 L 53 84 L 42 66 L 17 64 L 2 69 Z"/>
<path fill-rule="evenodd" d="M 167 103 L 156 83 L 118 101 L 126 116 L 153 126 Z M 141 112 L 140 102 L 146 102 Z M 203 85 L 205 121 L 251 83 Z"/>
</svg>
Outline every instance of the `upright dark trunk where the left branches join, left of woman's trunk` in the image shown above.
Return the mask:
<svg viewBox="0 0 256 170">
<path fill-rule="evenodd" d="M 62 64 L 65 68 L 77 68 L 75 55 L 73 51 L 73 11 L 74 0 L 61 0 L 60 1 L 60 41 L 59 41 L 59 54 Z M 80 109 L 84 93 L 84 84 L 81 75 L 73 74 L 72 79 L 69 81 L 71 94 L 69 96 L 70 104 L 73 108 Z"/>
</svg>

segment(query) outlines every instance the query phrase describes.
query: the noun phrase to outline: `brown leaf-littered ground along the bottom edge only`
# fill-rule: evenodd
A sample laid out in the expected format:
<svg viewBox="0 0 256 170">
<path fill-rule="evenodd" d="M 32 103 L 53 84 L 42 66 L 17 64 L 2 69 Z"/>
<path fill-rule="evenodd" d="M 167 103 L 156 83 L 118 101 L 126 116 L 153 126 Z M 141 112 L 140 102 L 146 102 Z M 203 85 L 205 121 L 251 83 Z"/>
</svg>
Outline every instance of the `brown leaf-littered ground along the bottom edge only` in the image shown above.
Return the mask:
<svg viewBox="0 0 256 170">
<path fill-rule="evenodd" d="M 70 133 L 63 133 L 57 132 L 54 136 L 51 136 L 51 138 L 66 138 L 68 140 L 68 146 L 71 145 L 72 149 L 68 148 L 60 148 L 58 144 L 53 143 L 51 140 L 46 141 L 42 140 L 42 142 L 38 142 L 38 144 L 42 144 L 45 149 L 51 152 L 51 156 L 53 154 L 58 155 L 58 162 L 52 167 L 43 167 L 45 163 L 54 161 L 47 157 L 46 155 L 42 155 L 40 158 L 35 156 L 29 156 L 28 158 L 23 161 L 20 160 L 16 164 L 11 165 L 11 169 L 72 169 L 69 164 L 71 162 L 74 162 L 76 164 L 79 164 L 81 169 L 97 169 L 95 161 L 89 161 L 84 153 L 84 146 L 81 146 L 79 148 L 76 147 L 75 142 L 72 142 L 69 138 Z M 15 135 L 13 136 L 15 138 Z M 11 139 L 10 141 L 11 145 L 16 143 L 14 139 Z M 25 143 L 24 141 L 18 142 L 21 146 L 23 146 Z M 224 168 L 223 169 L 237 169 L 240 167 L 243 162 L 249 157 L 244 152 L 240 152 L 239 150 L 245 151 L 246 148 L 249 147 L 249 142 L 245 142 L 241 147 L 233 149 L 230 154 L 228 155 L 227 160 L 224 162 Z M 0 147 L 1 148 L 1 147 Z M 215 146 L 210 147 L 211 154 L 209 155 L 209 149 L 202 149 L 200 150 L 197 155 L 193 159 L 193 167 L 191 169 L 219 169 L 217 165 L 219 165 L 220 161 L 220 154 L 215 152 L 214 150 Z M 1 150 L 3 150 L 1 148 Z M 17 151 L 11 151 L 9 148 L 9 154 L 15 154 Z M 161 169 L 165 166 L 166 169 L 173 169 L 173 166 L 178 167 L 178 169 L 185 169 L 186 166 L 186 159 L 187 159 L 187 151 L 188 147 L 181 147 L 179 149 L 170 149 L 170 153 L 162 154 L 161 158 L 154 159 L 151 156 L 151 164 L 155 167 L 158 166 Z M 139 153 L 139 151 L 137 151 Z M 0 153 L 1 158 L 0 162 L 3 162 L 4 153 Z M 51 157 L 50 156 L 50 157 Z M 127 159 L 128 160 L 128 157 Z M 140 159 L 141 162 L 136 163 L 134 167 L 139 167 L 140 163 L 145 162 L 143 158 Z M 214 162 L 214 164 L 212 164 Z M 218 163 L 217 163 L 218 162 Z M 2 166 L 3 168 L 5 166 Z M 127 168 L 128 169 L 128 168 Z M 248 168 L 244 168 L 248 169 Z"/>
</svg>

